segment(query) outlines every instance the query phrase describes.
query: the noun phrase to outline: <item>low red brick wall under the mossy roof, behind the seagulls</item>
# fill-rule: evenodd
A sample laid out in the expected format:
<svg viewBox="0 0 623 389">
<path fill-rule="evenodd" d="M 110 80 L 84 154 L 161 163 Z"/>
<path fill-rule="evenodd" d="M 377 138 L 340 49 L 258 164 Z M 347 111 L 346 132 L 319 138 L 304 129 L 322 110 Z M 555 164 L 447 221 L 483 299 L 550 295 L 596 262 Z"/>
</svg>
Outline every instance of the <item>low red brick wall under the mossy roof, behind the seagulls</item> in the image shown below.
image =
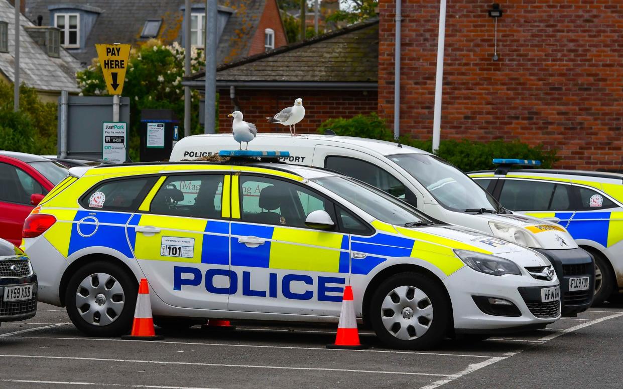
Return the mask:
<svg viewBox="0 0 623 389">
<path fill-rule="evenodd" d="M 232 131 L 231 118 L 234 111 L 229 90 L 220 91 L 219 132 Z M 287 126 L 268 123 L 266 118 L 274 116 L 297 98 L 303 99 L 305 118 L 297 124 L 297 133 L 315 133 L 320 123 L 330 118 L 351 118 L 376 111 L 376 91 L 327 91 L 327 90 L 236 90 L 239 110 L 244 120 L 254 123 L 260 133 L 289 132 Z"/>
</svg>

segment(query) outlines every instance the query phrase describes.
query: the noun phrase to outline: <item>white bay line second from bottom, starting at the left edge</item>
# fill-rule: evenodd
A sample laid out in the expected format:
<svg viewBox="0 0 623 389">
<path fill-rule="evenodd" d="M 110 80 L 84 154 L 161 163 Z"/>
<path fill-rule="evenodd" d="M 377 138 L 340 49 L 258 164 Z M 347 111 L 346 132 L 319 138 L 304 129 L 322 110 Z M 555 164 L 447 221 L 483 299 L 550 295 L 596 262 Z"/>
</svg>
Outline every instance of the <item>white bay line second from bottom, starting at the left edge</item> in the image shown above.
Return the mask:
<svg viewBox="0 0 623 389">
<path fill-rule="evenodd" d="M 10 355 L 0 354 L 5 358 L 31 358 L 31 359 L 59 359 L 59 360 L 88 360 L 95 362 L 123 362 L 123 363 L 155 363 L 157 365 L 188 365 L 210 367 L 236 367 L 236 368 L 265 368 L 275 370 L 309 370 L 316 372 L 348 372 L 348 373 L 373 373 L 394 375 L 426 375 L 432 377 L 454 377 L 454 374 L 414 373 L 414 372 L 387 372 L 383 370 L 358 370 L 350 368 L 328 367 L 292 367 L 292 366 L 268 366 L 268 365 L 234 365 L 232 363 L 205 363 L 205 362 L 172 362 L 164 360 L 140 360 L 140 359 L 113 359 L 113 358 L 87 358 L 87 357 L 57 357 L 53 355 Z"/>
</svg>

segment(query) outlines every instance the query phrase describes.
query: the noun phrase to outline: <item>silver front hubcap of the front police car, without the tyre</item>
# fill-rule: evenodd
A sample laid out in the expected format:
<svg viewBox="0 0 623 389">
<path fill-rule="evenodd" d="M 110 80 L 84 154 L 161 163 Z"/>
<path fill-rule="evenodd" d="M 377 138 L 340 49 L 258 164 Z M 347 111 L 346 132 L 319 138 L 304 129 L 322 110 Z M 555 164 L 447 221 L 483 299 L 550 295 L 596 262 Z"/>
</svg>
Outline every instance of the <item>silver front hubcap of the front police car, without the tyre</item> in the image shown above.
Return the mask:
<svg viewBox="0 0 623 389">
<path fill-rule="evenodd" d="M 415 286 L 392 289 L 381 304 L 381 321 L 388 332 L 401 340 L 421 337 L 432 324 L 429 297 Z"/>
</svg>

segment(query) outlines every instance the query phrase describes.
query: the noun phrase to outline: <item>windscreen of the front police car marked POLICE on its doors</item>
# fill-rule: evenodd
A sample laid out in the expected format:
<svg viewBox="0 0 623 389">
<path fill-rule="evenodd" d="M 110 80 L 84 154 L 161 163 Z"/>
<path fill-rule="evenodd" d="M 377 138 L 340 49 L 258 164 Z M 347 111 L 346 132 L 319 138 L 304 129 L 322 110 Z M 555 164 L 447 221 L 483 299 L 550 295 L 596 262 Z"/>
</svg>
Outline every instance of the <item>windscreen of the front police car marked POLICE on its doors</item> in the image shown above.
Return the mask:
<svg viewBox="0 0 623 389">
<path fill-rule="evenodd" d="M 394 225 L 409 225 L 414 223 L 430 223 L 426 218 L 409 205 L 391 197 L 381 190 L 359 184 L 345 177 L 323 177 L 313 179 L 331 192 L 348 199 L 353 205 L 368 213 L 374 218 Z"/>
</svg>

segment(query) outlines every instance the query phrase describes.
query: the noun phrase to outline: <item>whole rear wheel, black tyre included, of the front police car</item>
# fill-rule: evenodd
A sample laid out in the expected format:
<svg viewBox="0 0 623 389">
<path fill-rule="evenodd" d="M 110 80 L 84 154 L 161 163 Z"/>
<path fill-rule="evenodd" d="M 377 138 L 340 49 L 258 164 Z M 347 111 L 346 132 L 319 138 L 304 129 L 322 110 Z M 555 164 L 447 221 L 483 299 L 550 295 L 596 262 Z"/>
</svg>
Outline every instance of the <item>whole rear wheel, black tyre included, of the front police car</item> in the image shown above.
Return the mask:
<svg viewBox="0 0 623 389">
<path fill-rule="evenodd" d="M 69 279 L 65 305 L 69 319 L 84 334 L 115 337 L 130 332 L 137 295 L 133 274 L 115 263 L 94 261 Z"/>
</svg>

